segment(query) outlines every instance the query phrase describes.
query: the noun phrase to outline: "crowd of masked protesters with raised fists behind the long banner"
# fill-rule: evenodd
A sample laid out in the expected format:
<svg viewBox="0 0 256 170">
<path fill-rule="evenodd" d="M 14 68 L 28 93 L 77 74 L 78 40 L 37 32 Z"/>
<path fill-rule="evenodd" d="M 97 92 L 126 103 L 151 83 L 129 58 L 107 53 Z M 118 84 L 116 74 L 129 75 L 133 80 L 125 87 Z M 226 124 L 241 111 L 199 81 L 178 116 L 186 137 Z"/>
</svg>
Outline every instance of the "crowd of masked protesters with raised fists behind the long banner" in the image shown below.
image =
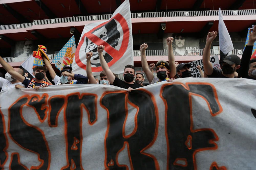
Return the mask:
<svg viewBox="0 0 256 170">
<path fill-rule="evenodd" d="M 206 38 L 206 45 L 203 52 L 203 65 L 204 73 L 200 66 L 198 70 L 201 77 L 216 77 L 216 78 L 247 78 L 256 80 L 256 59 L 251 59 L 254 42 L 256 41 L 256 26 L 250 29 L 249 41 L 244 49 L 242 59 L 237 55 L 229 55 L 223 61 L 220 62 L 221 69 L 212 67 L 210 62 L 210 47 L 212 41 L 217 36 L 217 32 L 209 32 Z M 141 51 L 141 64 L 143 71 L 148 79 L 149 84 L 154 84 L 162 81 L 172 82 L 178 78 L 191 77 L 190 64 L 188 63 L 177 63 L 175 62 L 173 54 L 173 43 L 174 38 L 168 37 L 166 39 L 168 45 L 168 62 L 164 60 L 157 61 L 156 64 L 152 63 L 150 66 L 146 60 L 145 50 L 147 44 L 140 46 Z M 34 79 L 29 79 L 27 74 L 24 75 L 22 69 L 13 68 L 7 62 L 0 57 L 0 64 L 7 71 L 5 79 L 0 77 L 0 87 L 3 90 L 10 88 L 34 88 L 39 89 L 43 87 L 51 86 L 52 83 L 47 79 L 46 72 L 49 71 L 50 77 L 55 85 L 61 84 L 110 84 L 131 91 L 132 89 L 144 86 L 143 81 L 145 80 L 143 73 L 135 74 L 135 68 L 132 65 L 127 65 L 124 68 L 123 76 L 124 81 L 120 80 L 109 68 L 104 56 L 104 46 L 99 45 L 97 51 L 99 53 L 100 64 L 103 71 L 100 73 L 100 80 L 95 80 L 92 75 L 91 62 L 92 53 L 86 54 L 87 76 L 74 74 L 70 65 L 63 66 L 61 70 L 61 76 L 59 77 L 54 69 L 52 68 L 48 58 L 44 57 L 45 66 L 36 66 L 33 68 Z M 157 77 L 153 74 L 155 67 Z M 239 69 L 239 70 L 238 70 Z"/>
</svg>

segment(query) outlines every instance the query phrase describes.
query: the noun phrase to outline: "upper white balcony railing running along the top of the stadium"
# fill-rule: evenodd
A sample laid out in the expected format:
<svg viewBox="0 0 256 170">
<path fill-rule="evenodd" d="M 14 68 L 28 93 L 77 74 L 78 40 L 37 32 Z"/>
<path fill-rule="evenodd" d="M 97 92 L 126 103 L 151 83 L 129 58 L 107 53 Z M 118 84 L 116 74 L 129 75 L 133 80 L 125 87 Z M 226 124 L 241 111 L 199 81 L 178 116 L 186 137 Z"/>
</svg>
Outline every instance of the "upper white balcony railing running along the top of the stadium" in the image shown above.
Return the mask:
<svg viewBox="0 0 256 170">
<path fill-rule="evenodd" d="M 221 13 L 223 16 L 256 15 L 256 9 L 222 10 Z M 198 17 L 198 16 L 218 16 L 218 15 L 219 15 L 218 10 L 214 10 L 214 11 L 210 10 L 210 11 L 142 12 L 142 13 L 131 13 L 131 18 Z M 107 14 L 107 15 L 90 15 L 90 16 L 79 16 L 79 17 L 34 20 L 34 22 L 25 23 L 25 24 L 1 25 L 0 30 L 30 28 L 33 25 L 44 25 L 44 24 L 54 24 L 54 23 L 107 20 L 107 19 L 110 19 L 111 16 L 112 16 L 111 14 Z"/>
</svg>

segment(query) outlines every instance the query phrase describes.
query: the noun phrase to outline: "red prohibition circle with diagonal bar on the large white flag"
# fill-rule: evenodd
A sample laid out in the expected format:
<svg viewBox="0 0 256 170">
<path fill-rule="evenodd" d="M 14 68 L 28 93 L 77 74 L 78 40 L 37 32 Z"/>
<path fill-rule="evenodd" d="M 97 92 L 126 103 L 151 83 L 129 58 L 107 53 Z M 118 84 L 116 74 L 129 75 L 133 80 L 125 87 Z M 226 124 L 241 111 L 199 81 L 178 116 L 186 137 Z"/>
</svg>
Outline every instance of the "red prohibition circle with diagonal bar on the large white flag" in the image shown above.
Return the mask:
<svg viewBox="0 0 256 170">
<path fill-rule="evenodd" d="M 122 40 L 120 49 L 116 50 L 111 45 L 109 45 L 107 42 L 105 42 L 104 40 L 100 39 L 98 36 L 96 36 L 92 33 L 94 30 L 102 27 L 103 25 L 108 23 L 110 20 L 106 21 L 106 22 L 98 25 L 97 27 L 94 27 L 92 30 L 88 31 L 87 33 L 85 33 L 83 35 L 81 41 L 79 42 L 79 44 L 77 46 L 77 50 L 76 50 L 76 59 L 75 60 L 76 60 L 77 65 L 80 68 L 86 70 L 86 65 L 84 63 L 82 63 L 82 61 L 80 60 L 80 57 L 79 57 L 79 51 L 80 51 L 82 44 L 84 43 L 85 37 L 87 37 L 89 40 L 91 40 L 96 45 L 104 45 L 105 46 L 106 53 L 108 53 L 111 57 L 113 57 L 113 59 L 108 63 L 109 67 L 111 67 L 116 61 L 118 61 L 124 55 L 124 53 L 128 47 L 128 44 L 129 44 L 129 37 L 130 37 L 129 27 L 127 25 L 125 18 L 119 13 L 116 14 L 112 19 L 115 19 L 116 21 L 118 21 L 123 29 L 124 35 L 123 35 L 123 40 Z M 92 67 L 92 72 L 100 72 L 100 71 L 102 71 L 102 67 Z"/>
</svg>

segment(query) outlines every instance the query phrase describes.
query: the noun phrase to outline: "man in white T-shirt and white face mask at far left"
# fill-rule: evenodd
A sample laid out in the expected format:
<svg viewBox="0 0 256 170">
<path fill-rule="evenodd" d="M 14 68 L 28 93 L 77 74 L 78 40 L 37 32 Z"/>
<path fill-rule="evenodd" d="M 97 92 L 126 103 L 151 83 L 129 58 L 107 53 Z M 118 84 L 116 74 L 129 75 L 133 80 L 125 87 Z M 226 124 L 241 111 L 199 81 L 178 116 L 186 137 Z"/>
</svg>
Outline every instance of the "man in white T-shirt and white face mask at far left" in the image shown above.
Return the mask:
<svg viewBox="0 0 256 170">
<path fill-rule="evenodd" d="M 14 70 L 21 75 L 23 75 L 23 70 L 19 68 L 14 68 Z M 10 75 L 8 72 L 5 74 L 5 79 L 0 77 L 0 87 L 2 88 L 1 91 L 8 90 L 11 88 L 15 88 L 15 85 L 21 85 L 25 87 L 20 81 L 17 79 L 14 79 L 12 75 Z"/>
</svg>

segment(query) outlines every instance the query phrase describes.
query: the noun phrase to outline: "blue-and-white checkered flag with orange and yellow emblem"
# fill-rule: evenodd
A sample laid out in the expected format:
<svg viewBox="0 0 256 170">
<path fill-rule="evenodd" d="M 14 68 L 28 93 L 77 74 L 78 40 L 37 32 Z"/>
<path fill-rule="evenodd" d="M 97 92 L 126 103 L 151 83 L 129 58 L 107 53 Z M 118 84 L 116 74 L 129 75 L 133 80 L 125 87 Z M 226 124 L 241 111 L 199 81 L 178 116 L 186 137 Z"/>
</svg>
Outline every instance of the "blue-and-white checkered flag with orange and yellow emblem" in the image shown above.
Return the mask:
<svg viewBox="0 0 256 170">
<path fill-rule="evenodd" d="M 55 56 L 52 60 L 52 62 L 55 64 L 55 67 L 61 71 L 62 67 L 65 65 L 72 66 L 76 49 L 76 42 L 73 35 L 65 44 L 65 46 L 62 47 L 57 56 Z"/>
</svg>

